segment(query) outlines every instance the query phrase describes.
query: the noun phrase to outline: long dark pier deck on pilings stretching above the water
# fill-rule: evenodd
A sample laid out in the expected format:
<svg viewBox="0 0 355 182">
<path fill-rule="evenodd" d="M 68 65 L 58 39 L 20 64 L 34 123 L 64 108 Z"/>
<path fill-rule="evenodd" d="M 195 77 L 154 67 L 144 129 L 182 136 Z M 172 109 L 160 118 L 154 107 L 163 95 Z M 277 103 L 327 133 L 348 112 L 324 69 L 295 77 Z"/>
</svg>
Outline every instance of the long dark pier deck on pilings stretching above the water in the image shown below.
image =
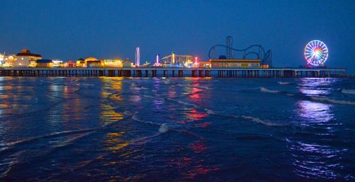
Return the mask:
<svg viewBox="0 0 355 182">
<path fill-rule="evenodd" d="M 345 69 L 307 68 L 11 68 L 0 76 L 124 76 L 124 77 L 222 77 L 296 78 L 344 77 Z"/>
</svg>

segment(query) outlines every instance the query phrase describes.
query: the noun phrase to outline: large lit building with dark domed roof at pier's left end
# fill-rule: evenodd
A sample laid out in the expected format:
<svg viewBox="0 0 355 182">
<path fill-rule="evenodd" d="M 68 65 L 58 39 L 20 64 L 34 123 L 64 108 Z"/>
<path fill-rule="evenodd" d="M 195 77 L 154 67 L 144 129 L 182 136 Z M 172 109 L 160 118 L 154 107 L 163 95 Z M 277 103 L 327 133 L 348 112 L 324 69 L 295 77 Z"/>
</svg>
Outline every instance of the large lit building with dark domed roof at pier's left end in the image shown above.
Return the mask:
<svg viewBox="0 0 355 182">
<path fill-rule="evenodd" d="M 42 59 L 42 56 L 33 54 L 30 50 L 23 49 L 17 53 L 13 67 L 35 67 L 38 59 Z"/>
</svg>

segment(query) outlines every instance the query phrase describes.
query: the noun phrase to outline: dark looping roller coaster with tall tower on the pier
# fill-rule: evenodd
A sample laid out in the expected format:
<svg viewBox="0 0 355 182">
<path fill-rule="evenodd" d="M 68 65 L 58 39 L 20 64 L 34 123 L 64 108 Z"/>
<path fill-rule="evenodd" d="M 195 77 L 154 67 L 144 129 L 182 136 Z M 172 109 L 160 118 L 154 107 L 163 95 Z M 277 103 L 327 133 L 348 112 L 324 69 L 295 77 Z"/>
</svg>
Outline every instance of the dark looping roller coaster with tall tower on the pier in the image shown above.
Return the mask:
<svg viewBox="0 0 355 182">
<path fill-rule="evenodd" d="M 246 47 L 245 49 L 236 49 L 231 46 L 233 40 L 230 36 L 226 38 L 226 45 L 214 45 L 209 49 L 208 57 L 209 59 L 261 59 L 261 65 L 268 65 L 268 67 L 272 67 L 273 59 L 272 59 L 272 51 L 265 49 L 261 45 L 251 45 Z M 220 55 L 216 57 L 216 48 L 224 47 L 226 48 L 226 56 Z M 234 51 L 234 52 L 233 52 Z M 236 53 L 241 52 L 239 58 L 236 58 Z"/>
</svg>

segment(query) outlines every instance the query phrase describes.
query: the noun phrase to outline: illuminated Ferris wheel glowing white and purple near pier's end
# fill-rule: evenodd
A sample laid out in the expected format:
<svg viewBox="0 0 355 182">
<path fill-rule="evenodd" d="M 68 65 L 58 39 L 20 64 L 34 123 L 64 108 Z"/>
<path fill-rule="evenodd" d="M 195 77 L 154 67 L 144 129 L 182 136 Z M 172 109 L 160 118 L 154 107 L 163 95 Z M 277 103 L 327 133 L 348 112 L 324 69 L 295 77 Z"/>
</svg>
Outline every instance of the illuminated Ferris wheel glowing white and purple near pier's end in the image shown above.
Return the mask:
<svg viewBox="0 0 355 182">
<path fill-rule="evenodd" d="M 320 40 L 312 40 L 305 47 L 305 59 L 312 66 L 323 65 L 328 58 L 328 47 Z"/>
</svg>

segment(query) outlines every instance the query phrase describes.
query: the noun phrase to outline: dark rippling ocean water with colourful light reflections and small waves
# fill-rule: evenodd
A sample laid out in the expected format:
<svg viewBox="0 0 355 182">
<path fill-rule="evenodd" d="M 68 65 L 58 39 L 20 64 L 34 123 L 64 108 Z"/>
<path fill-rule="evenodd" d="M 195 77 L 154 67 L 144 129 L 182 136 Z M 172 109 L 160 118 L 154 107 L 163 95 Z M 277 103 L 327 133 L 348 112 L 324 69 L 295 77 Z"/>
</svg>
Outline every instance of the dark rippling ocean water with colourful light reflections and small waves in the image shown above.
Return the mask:
<svg viewBox="0 0 355 182">
<path fill-rule="evenodd" d="M 0 181 L 355 181 L 355 79 L 0 77 Z"/>
</svg>

